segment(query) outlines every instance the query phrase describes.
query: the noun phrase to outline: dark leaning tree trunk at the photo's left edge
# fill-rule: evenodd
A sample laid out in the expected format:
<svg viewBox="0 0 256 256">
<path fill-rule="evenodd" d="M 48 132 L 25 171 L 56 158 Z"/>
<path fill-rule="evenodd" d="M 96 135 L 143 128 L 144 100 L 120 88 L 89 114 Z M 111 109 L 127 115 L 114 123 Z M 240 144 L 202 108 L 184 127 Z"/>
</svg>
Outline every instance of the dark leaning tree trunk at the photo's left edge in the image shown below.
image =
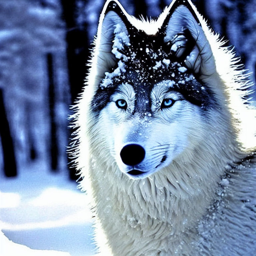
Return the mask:
<svg viewBox="0 0 256 256">
<path fill-rule="evenodd" d="M 6 116 L 2 89 L 0 89 L 0 120 L 0 136 L 3 149 L 4 173 L 7 177 L 14 177 L 17 175 L 16 157 L 10 127 Z"/>
</svg>

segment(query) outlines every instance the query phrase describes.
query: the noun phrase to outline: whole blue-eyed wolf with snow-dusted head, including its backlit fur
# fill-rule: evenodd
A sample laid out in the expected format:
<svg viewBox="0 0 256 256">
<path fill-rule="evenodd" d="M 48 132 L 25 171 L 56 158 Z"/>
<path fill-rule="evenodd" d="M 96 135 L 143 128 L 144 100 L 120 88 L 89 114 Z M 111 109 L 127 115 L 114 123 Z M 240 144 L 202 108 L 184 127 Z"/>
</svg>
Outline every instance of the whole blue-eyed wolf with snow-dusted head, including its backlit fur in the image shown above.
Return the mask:
<svg viewBox="0 0 256 256">
<path fill-rule="evenodd" d="M 190 0 L 100 16 L 74 106 L 74 164 L 102 255 L 256 255 L 249 74 Z"/>
</svg>

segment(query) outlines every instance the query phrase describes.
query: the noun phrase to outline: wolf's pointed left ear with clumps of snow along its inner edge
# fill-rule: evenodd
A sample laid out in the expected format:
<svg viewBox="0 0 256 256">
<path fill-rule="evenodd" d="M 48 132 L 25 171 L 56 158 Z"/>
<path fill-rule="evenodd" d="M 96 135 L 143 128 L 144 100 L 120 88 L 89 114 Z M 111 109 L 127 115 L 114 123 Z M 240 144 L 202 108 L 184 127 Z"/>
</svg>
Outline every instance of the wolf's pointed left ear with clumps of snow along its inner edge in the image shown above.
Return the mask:
<svg viewBox="0 0 256 256">
<path fill-rule="evenodd" d="M 129 45 L 127 25 L 128 14 L 118 1 L 107 1 L 100 15 L 93 62 L 99 80 L 110 71 L 119 59 L 125 61 L 121 52 L 124 45 Z"/>
</svg>

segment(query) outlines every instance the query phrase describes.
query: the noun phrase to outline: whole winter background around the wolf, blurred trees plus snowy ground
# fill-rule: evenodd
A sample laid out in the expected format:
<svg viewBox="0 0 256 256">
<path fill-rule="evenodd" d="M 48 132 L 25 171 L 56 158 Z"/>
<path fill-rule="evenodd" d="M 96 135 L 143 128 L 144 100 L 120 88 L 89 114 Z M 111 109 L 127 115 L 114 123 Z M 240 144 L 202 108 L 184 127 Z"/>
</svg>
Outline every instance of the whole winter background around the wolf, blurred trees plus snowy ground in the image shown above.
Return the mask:
<svg viewBox="0 0 256 256">
<path fill-rule="evenodd" d="M 90 213 L 66 150 L 70 106 L 83 87 L 104 2 L 0 0 L 0 229 L 34 249 L 93 255 Z M 157 17 L 170 2 L 120 0 L 137 18 Z M 256 1 L 192 2 L 226 45 L 235 46 L 255 83 Z M 31 194 L 63 208 L 40 208 Z M 66 225 L 54 222 L 60 211 L 68 211 Z M 36 224 L 26 225 L 25 215 L 31 215 L 27 223 Z"/>
</svg>

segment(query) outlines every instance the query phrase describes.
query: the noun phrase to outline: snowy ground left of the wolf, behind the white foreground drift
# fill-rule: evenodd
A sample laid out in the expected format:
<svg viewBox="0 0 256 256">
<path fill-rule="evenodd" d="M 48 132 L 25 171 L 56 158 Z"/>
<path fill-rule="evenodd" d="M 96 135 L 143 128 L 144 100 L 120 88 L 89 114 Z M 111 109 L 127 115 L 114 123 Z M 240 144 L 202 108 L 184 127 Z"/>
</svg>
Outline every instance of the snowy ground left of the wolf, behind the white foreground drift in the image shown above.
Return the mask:
<svg viewBox="0 0 256 256">
<path fill-rule="evenodd" d="M 67 175 L 40 171 L 38 165 L 17 178 L 0 174 L 0 228 L 32 249 L 94 255 L 91 214 L 76 186 Z"/>
</svg>

